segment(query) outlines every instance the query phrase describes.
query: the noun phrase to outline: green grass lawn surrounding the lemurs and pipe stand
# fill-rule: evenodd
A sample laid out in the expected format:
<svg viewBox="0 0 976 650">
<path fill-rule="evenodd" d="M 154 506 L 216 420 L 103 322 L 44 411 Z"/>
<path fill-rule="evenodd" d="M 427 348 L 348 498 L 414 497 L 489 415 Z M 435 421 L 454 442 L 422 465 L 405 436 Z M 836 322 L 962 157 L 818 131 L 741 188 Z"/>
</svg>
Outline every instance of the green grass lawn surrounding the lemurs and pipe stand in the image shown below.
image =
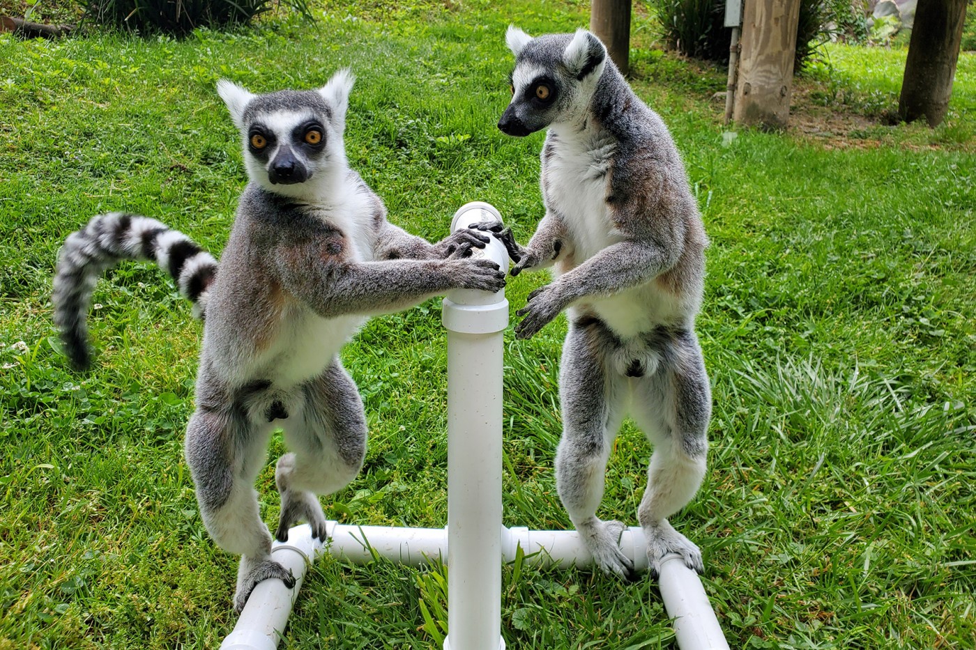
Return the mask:
<svg viewBox="0 0 976 650">
<path fill-rule="evenodd" d="M 245 175 L 218 78 L 311 88 L 351 65 L 349 159 L 413 232 L 443 236 L 475 199 L 522 241 L 542 216 L 543 136 L 495 127 L 504 30 L 571 30 L 588 5 L 316 14 L 183 41 L 0 36 L 0 650 L 214 648 L 234 623 L 236 557 L 207 538 L 183 463 L 199 323 L 157 269 L 123 264 L 99 284 L 96 368 L 78 375 L 49 305 L 61 241 L 100 212 L 221 250 Z M 724 70 L 662 54 L 653 26 L 637 12 L 633 86 L 671 126 L 712 237 L 710 471 L 672 522 L 705 552 L 730 645 L 976 646 L 976 55 L 960 58 L 935 131 L 875 119 L 897 105 L 904 50 L 832 46 L 797 83 L 796 128 L 730 135 L 710 100 Z M 512 310 L 545 281 L 510 281 Z M 439 312 L 374 319 L 346 347 L 371 441 L 361 475 L 323 499 L 331 518 L 443 525 Z M 552 473 L 565 327 L 507 333 L 509 526 L 569 526 Z M 282 449 L 276 436 L 270 457 Z M 649 455 L 625 425 L 601 516 L 636 523 Z M 270 464 L 259 490 L 276 521 Z M 649 579 L 513 572 L 509 648 L 674 647 Z M 325 558 L 281 647 L 439 647 L 444 573 Z"/>
</svg>

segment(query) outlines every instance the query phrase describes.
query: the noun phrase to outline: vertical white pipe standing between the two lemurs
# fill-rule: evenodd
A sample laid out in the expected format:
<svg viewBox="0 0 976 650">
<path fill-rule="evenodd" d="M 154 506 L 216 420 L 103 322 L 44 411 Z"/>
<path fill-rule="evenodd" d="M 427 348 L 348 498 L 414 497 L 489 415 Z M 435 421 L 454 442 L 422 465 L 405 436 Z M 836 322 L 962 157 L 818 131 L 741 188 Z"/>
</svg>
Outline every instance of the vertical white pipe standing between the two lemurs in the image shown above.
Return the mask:
<svg viewBox="0 0 976 650">
<path fill-rule="evenodd" d="M 498 220 L 468 203 L 451 231 Z M 497 239 L 477 257 L 508 270 Z M 502 638 L 502 372 L 505 292 L 453 291 L 447 328 L 447 628 L 444 650 L 504 650 Z"/>
</svg>

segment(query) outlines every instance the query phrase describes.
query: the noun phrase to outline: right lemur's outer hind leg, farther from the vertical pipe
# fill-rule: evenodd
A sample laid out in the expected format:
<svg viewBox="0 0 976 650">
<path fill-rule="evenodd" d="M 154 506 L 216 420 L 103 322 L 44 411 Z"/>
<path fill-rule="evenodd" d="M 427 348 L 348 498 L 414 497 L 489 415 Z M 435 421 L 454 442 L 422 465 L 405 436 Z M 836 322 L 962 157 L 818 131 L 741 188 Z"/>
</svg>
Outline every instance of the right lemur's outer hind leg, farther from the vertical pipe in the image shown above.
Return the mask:
<svg viewBox="0 0 976 650">
<path fill-rule="evenodd" d="M 665 345 L 659 371 L 634 380 L 631 410 L 654 445 L 637 519 L 655 577 L 660 575 L 662 558 L 670 552 L 699 573 L 705 569 L 702 551 L 674 530 L 667 517 L 691 501 L 702 484 L 712 415 L 709 378 L 694 333 L 680 331 Z"/>
</svg>

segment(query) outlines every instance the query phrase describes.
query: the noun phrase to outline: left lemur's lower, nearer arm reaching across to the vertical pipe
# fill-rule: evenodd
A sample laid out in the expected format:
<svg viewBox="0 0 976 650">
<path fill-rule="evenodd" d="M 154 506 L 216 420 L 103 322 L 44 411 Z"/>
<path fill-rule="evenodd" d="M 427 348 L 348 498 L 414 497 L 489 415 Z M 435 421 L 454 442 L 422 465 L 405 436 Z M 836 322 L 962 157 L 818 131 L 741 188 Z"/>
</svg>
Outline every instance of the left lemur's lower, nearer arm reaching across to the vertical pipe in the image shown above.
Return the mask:
<svg viewBox="0 0 976 650">
<path fill-rule="evenodd" d="M 505 272 L 490 260 L 351 262 L 342 256 L 344 244 L 282 245 L 275 256 L 282 288 L 324 318 L 400 311 L 455 288 L 505 286 Z"/>
</svg>

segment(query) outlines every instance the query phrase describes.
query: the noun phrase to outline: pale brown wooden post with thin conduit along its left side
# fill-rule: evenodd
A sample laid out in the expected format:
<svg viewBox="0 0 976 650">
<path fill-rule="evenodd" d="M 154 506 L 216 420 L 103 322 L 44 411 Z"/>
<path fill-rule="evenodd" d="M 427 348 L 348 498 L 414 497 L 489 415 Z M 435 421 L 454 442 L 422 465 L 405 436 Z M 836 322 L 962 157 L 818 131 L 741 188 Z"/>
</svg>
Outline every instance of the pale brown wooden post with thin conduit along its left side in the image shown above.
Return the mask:
<svg viewBox="0 0 976 650">
<path fill-rule="evenodd" d="M 732 118 L 746 126 L 785 129 L 790 121 L 799 0 L 745 4 Z"/>
</svg>

